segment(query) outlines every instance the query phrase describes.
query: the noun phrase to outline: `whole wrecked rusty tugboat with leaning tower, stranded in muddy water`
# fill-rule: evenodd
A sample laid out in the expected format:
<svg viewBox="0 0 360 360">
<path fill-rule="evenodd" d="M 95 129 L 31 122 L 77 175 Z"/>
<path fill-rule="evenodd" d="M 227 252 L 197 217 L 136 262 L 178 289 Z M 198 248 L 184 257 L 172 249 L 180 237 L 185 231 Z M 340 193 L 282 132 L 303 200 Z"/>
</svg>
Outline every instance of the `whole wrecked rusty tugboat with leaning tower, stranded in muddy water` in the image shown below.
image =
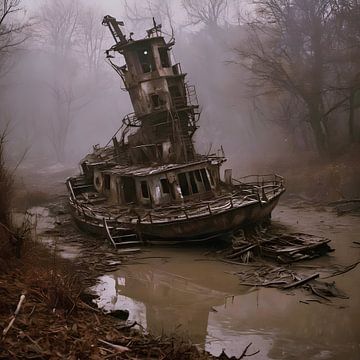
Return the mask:
<svg viewBox="0 0 360 360">
<path fill-rule="evenodd" d="M 122 22 L 105 16 L 114 40 L 107 60 L 129 92 L 134 112 L 105 147 L 94 146 L 81 174 L 66 181 L 76 224 L 123 242 L 205 241 L 266 221 L 285 191 L 282 177 L 233 179 L 220 168 L 223 150 L 196 152 L 200 107 L 195 87 L 173 63 L 174 38 L 161 25 L 145 38 L 127 37 Z M 121 56 L 124 65 L 115 63 Z"/>
</svg>

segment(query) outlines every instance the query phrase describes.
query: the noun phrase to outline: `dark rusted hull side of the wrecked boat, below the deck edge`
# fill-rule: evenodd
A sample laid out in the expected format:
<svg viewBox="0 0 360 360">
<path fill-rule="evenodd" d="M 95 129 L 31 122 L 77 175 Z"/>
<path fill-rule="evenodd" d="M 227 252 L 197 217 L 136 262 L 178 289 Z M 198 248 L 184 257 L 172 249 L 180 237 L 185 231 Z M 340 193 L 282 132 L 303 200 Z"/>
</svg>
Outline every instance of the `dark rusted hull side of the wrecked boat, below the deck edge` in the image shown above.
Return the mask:
<svg viewBox="0 0 360 360">
<path fill-rule="evenodd" d="M 133 230 L 138 237 L 147 243 L 174 244 L 182 242 L 200 242 L 213 240 L 223 234 L 243 226 L 268 220 L 272 210 L 277 205 L 282 192 L 279 192 L 267 202 L 254 202 L 241 207 L 234 207 L 219 213 L 207 214 L 177 221 L 153 223 L 128 223 L 127 231 Z M 84 217 L 72 207 L 72 215 L 76 225 L 83 231 L 105 236 L 106 231 L 102 221 Z M 117 222 L 107 220 L 111 228 L 117 228 Z"/>
</svg>

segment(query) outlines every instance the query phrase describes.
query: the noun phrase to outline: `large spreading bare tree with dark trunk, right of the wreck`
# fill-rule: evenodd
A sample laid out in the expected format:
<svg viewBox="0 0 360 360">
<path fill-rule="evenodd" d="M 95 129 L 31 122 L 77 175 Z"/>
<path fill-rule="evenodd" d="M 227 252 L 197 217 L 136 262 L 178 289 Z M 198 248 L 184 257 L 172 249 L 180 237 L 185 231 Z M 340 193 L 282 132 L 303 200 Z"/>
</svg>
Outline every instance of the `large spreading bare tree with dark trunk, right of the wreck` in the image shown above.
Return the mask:
<svg viewBox="0 0 360 360">
<path fill-rule="evenodd" d="M 328 117 L 344 99 L 335 96 L 336 9 L 328 0 L 260 0 L 237 49 L 257 95 L 286 94 L 302 102 L 316 147 L 329 150 Z M 330 47 L 330 48 L 329 48 Z M 335 81 L 335 82 L 334 82 Z"/>
</svg>

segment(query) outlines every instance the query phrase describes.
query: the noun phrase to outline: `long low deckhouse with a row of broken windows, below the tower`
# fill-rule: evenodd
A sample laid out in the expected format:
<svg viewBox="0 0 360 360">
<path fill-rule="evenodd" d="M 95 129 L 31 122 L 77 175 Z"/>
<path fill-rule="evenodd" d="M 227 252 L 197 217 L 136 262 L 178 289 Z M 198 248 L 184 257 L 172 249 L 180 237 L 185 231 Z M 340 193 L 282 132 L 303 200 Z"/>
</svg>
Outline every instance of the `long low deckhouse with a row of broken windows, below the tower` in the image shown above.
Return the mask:
<svg viewBox="0 0 360 360">
<path fill-rule="evenodd" d="M 95 166 L 93 184 L 110 203 L 154 207 L 212 197 L 219 190 L 217 161 L 158 167 Z"/>
</svg>

